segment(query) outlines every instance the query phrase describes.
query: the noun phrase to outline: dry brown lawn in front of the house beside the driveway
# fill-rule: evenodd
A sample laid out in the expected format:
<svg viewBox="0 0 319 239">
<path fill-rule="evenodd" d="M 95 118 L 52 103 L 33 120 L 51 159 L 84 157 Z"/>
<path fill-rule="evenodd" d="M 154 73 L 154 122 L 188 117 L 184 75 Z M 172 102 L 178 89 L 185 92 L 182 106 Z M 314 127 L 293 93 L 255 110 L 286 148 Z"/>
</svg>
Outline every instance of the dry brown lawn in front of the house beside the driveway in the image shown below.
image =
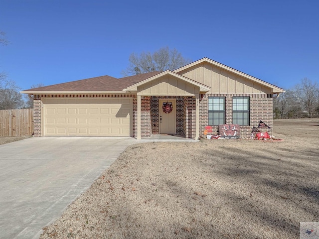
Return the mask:
<svg viewBox="0 0 319 239">
<path fill-rule="evenodd" d="M 284 141 L 135 144 L 40 238 L 294 239 L 319 221 L 319 119 Z"/>
</svg>

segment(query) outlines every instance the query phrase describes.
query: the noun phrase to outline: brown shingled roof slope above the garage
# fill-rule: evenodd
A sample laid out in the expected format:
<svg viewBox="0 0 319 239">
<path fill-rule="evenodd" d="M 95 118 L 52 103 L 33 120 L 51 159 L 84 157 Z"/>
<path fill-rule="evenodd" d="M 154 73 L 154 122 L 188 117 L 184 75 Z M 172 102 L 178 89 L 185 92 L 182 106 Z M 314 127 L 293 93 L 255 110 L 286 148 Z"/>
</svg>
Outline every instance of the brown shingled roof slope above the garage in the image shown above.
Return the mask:
<svg viewBox="0 0 319 239">
<path fill-rule="evenodd" d="M 70 91 L 122 91 L 123 89 L 159 74 L 159 71 L 115 78 L 111 76 L 99 76 L 84 80 L 71 81 L 56 85 L 43 86 L 24 90 L 23 92 L 70 92 Z"/>
</svg>

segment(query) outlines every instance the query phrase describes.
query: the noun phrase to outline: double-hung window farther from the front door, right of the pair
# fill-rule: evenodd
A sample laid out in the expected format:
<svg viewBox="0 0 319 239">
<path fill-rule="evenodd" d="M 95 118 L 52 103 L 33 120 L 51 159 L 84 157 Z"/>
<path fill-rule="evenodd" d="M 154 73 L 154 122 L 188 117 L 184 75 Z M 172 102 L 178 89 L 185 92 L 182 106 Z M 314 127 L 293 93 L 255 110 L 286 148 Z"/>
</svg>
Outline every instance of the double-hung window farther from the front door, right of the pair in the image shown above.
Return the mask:
<svg viewBox="0 0 319 239">
<path fill-rule="evenodd" d="M 233 97 L 233 124 L 249 125 L 249 97 Z"/>
</svg>

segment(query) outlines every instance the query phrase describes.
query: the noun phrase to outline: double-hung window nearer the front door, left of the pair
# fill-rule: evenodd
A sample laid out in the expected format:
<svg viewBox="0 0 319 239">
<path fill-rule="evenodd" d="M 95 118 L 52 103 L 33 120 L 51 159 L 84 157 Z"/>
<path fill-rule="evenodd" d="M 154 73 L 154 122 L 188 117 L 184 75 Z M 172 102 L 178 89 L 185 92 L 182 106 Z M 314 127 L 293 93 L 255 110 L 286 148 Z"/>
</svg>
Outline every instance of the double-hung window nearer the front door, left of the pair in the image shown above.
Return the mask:
<svg viewBox="0 0 319 239">
<path fill-rule="evenodd" d="M 225 97 L 208 97 L 208 125 L 225 124 Z"/>
</svg>

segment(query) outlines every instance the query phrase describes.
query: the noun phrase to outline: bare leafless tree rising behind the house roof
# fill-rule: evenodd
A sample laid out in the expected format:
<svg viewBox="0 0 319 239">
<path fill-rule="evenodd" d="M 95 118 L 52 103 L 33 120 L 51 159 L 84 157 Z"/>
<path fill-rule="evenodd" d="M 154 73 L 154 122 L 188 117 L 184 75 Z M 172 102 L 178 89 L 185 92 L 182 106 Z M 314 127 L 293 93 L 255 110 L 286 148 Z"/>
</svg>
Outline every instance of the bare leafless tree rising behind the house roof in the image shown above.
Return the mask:
<svg viewBox="0 0 319 239">
<path fill-rule="evenodd" d="M 140 55 L 132 53 L 129 57 L 130 65 L 123 75 L 138 75 L 152 71 L 175 70 L 191 61 L 185 59 L 175 48 L 170 50 L 168 46 L 158 51 L 142 52 Z"/>
</svg>

